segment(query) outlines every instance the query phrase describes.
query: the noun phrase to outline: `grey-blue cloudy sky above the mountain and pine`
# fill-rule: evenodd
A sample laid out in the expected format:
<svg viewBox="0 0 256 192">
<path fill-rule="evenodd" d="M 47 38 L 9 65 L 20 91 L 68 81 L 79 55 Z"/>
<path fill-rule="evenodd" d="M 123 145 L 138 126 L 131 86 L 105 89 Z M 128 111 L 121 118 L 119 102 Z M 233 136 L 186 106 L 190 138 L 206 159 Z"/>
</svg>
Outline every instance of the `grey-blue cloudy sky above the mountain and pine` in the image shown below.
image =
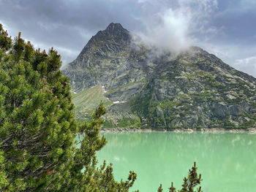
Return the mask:
<svg viewBox="0 0 256 192">
<path fill-rule="evenodd" d="M 203 47 L 256 77 L 255 0 L 0 0 L 0 23 L 73 61 L 91 36 L 121 23 L 164 50 Z"/>
</svg>

